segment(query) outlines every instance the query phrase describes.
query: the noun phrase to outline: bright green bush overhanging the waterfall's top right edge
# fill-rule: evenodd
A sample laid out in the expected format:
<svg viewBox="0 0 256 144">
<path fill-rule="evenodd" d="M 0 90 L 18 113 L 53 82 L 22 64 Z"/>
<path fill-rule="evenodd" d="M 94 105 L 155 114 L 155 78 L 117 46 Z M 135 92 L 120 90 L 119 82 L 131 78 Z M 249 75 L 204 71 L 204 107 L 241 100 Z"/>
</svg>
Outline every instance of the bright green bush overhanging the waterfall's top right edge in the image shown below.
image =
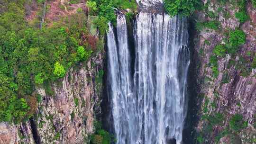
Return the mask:
<svg viewBox="0 0 256 144">
<path fill-rule="evenodd" d="M 170 16 L 190 16 L 197 6 L 201 5 L 200 0 L 164 0 L 165 10 Z"/>
</svg>

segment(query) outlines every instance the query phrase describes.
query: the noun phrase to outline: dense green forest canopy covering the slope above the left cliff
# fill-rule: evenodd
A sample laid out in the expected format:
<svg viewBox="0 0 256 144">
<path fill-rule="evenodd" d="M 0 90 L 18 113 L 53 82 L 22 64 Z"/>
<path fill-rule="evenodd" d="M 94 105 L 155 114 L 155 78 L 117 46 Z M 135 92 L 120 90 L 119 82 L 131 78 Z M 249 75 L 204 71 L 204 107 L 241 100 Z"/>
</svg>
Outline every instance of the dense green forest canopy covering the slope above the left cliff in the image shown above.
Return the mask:
<svg viewBox="0 0 256 144">
<path fill-rule="evenodd" d="M 82 38 L 89 35 L 83 13 L 40 30 L 25 20 L 24 1 L 5 0 L 0 9 L 0 121 L 18 123 L 31 116 L 27 99 L 37 84 L 53 95 L 51 83 L 78 62 L 78 46 L 84 47 L 84 60 L 91 55 Z"/>
</svg>

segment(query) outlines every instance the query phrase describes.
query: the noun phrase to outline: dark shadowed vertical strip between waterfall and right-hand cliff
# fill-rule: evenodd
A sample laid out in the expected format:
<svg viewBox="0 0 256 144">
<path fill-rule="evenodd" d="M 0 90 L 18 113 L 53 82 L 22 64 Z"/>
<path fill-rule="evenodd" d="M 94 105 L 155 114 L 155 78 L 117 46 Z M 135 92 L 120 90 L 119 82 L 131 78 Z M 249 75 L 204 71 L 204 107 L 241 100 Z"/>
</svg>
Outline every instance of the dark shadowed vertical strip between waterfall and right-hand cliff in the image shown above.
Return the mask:
<svg viewBox="0 0 256 144">
<path fill-rule="evenodd" d="M 197 144 L 196 141 L 196 130 L 194 127 L 197 126 L 199 121 L 198 111 L 200 105 L 197 105 L 199 97 L 198 90 L 200 90 L 199 85 L 197 84 L 197 64 L 198 54 L 195 53 L 194 45 L 194 36 L 196 36 L 195 22 L 193 18 L 189 18 L 189 49 L 191 62 L 189 66 L 188 73 L 188 110 L 187 117 L 185 120 L 185 125 L 183 129 L 183 144 Z"/>
</svg>

